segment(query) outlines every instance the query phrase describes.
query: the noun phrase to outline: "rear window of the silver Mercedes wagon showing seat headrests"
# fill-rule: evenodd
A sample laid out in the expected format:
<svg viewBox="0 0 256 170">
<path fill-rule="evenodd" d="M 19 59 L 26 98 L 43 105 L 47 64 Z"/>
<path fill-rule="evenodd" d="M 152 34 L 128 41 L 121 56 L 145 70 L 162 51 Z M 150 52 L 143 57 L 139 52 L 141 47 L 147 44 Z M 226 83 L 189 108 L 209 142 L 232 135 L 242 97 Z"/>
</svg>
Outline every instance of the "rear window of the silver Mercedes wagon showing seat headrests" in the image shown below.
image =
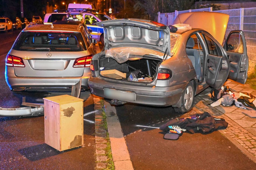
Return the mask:
<svg viewBox="0 0 256 170">
<path fill-rule="evenodd" d="M 19 51 L 85 51 L 81 33 L 22 32 L 14 50 Z"/>
</svg>

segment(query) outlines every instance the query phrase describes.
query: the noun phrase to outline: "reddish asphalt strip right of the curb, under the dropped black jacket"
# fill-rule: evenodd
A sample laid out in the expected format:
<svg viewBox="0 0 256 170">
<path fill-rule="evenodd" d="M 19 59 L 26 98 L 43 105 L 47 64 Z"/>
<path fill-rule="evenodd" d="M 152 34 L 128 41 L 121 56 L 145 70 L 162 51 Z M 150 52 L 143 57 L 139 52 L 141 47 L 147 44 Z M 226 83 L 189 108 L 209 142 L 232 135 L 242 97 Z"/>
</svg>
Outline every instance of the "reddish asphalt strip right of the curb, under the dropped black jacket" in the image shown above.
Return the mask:
<svg viewBox="0 0 256 170">
<path fill-rule="evenodd" d="M 115 107 L 134 169 L 255 169 L 256 164 L 220 132 L 163 139 L 157 129 L 180 115 L 171 107 Z M 188 114 L 181 115 L 187 117 Z"/>
</svg>

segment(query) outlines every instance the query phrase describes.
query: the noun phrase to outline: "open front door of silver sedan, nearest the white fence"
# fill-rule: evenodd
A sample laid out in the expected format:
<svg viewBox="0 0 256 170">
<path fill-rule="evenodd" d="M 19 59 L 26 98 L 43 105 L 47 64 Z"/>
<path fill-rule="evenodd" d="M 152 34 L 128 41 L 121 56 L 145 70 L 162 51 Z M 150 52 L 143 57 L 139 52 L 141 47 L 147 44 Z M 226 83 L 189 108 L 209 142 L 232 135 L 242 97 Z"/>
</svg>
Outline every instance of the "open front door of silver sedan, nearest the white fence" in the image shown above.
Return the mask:
<svg viewBox="0 0 256 170">
<path fill-rule="evenodd" d="M 229 78 L 244 84 L 247 80 L 248 56 L 246 40 L 241 30 L 234 30 L 229 33 L 224 44 L 230 63 Z"/>
</svg>

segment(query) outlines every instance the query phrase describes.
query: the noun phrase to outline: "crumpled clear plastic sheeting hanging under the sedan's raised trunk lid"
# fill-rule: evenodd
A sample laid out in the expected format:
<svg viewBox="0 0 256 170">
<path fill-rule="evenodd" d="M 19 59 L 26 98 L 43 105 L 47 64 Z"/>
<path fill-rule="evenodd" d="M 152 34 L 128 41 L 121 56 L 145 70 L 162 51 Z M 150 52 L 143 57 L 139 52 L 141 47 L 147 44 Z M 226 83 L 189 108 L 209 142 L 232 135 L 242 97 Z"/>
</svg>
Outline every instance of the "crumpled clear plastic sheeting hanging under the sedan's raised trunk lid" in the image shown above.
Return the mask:
<svg viewBox="0 0 256 170">
<path fill-rule="evenodd" d="M 140 47 L 117 47 L 106 51 L 106 57 L 113 58 L 118 63 L 123 63 L 127 60 L 139 60 L 145 54 L 153 55 L 162 59 L 164 56 L 162 52 Z M 168 58 L 170 58 L 170 56 L 167 56 L 167 59 Z"/>
</svg>

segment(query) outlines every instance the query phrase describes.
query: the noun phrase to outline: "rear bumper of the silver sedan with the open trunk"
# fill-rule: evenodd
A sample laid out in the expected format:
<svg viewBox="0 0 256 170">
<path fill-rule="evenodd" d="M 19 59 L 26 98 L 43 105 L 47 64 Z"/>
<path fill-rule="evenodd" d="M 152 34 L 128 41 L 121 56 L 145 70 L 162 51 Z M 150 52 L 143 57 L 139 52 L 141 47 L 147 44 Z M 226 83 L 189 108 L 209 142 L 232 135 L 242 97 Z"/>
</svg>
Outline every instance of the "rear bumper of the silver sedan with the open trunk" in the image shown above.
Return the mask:
<svg viewBox="0 0 256 170">
<path fill-rule="evenodd" d="M 110 88 L 120 91 L 126 91 L 130 93 L 135 93 L 135 100 L 129 101 L 125 100 L 124 96 L 120 97 L 125 102 L 138 103 L 144 105 L 152 106 L 170 106 L 177 104 L 179 101 L 183 90 L 185 89 L 187 83 L 179 84 L 171 87 L 148 87 L 148 86 L 138 86 L 135 85 L 121 84 L 107 82 L 99 77 L 90 77 L 88 80 L 88 85 L 90 87 L 91 93 L 108 98 L 108 99 L 118 99 L 109 98 L 109 96 L 104 95 L 104 88 Z M 125 95 L 125 94 L 124 94 Z"/>
</svg>

